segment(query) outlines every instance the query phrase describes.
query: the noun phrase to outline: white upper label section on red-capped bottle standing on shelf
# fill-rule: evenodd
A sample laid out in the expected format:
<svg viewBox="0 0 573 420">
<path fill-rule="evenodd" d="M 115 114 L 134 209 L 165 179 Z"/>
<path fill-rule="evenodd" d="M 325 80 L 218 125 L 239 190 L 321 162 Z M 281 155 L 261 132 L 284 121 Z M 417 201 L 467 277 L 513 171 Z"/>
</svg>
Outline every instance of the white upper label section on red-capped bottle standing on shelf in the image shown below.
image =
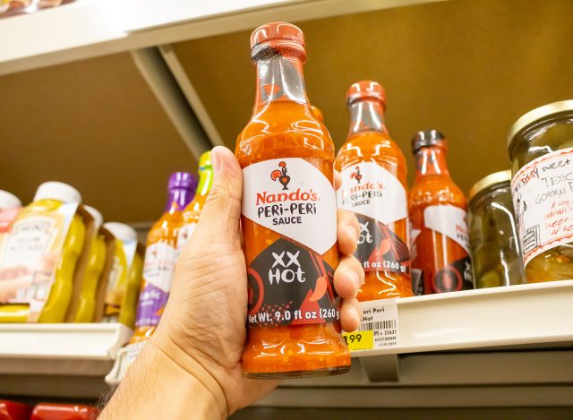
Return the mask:
<svg viewBox="0 0 573 420">
<path fill-rule="evenodd" d="M 388 170 L 373 162 L 362 162 L 346 167 L 340 176 L 339 209 L 363 214 L 385 225 L 406 219 L 406 189 Z"/>
</svg>

